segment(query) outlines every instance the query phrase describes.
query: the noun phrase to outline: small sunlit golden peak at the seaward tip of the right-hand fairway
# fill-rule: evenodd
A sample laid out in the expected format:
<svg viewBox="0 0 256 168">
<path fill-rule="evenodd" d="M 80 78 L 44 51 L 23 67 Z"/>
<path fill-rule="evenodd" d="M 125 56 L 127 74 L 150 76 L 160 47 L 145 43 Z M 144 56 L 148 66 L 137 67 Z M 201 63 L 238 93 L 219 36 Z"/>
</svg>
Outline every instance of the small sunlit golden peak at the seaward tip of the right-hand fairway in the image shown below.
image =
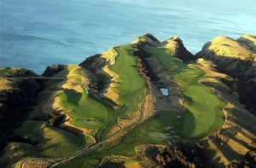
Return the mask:
<svg viewBox="0 0 256 168">
<path fill-rule="evenodd" d="M 191 61 L 195 59 L 195 56 L 192 55 L 183 45 L 183 41 L 174 36 L 172 38 L 167 39 L 166 41 L 162 42 L 161 45 L 166 49 L 173 50 L 173 56 L 177 57 L 182 61 Z"/>
</svg>

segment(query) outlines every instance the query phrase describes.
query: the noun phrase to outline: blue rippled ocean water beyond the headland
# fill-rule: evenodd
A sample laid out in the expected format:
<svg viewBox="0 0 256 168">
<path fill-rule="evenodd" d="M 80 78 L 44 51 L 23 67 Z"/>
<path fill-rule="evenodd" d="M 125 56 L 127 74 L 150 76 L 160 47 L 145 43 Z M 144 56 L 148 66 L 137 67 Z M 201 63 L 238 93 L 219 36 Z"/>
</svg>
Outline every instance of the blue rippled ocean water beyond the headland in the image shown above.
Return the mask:
<svg viewBox="0 0 256 168">
<path fill-rule="evenodd" d="M 198 52 L 218 35 L 256 34 L 255 0 L 1 0 L 0 66 L 79 64 L 147 32 Z"/>
</svg>

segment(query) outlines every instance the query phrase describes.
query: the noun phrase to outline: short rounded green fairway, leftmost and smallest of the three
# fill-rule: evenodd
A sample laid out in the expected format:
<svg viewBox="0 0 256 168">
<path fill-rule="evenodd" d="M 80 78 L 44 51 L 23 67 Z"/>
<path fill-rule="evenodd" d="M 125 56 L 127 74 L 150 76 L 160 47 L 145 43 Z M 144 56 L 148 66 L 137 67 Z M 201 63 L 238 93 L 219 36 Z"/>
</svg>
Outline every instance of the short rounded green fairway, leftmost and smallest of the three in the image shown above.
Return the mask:
<svg viewBox="0 0 256 168">
<path fill-rule="evenodd" d="M 100 128 L 111 119 L 111 107 L 94 96 L 82 93 L 67 93 L 61 91 L 57 96 L 61 99 L 61 106 L 66 110 L 73 120 L 73 125 L 82 128 Z"/>
</svg>

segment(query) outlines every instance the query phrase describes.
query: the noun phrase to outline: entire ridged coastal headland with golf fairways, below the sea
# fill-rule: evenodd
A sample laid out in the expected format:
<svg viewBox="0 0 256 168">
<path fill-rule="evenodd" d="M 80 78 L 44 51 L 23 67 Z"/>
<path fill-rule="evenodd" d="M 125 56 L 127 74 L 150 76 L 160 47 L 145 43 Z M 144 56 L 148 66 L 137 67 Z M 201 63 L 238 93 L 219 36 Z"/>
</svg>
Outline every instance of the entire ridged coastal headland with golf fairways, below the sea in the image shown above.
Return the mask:
<svg viewBox="0 0 256 168">
<path fill-rule="evenodd" d="M 27 74 L 38 101 L 6 134 L 0 165 L 253 166 L 254 70 L 253 36 L 213 38 L 192 55 L 180 38 L 146 34 L 79 65 Z M 22 77 L 9 72 L 1 68 L 2 92 Z"/>
</svg>

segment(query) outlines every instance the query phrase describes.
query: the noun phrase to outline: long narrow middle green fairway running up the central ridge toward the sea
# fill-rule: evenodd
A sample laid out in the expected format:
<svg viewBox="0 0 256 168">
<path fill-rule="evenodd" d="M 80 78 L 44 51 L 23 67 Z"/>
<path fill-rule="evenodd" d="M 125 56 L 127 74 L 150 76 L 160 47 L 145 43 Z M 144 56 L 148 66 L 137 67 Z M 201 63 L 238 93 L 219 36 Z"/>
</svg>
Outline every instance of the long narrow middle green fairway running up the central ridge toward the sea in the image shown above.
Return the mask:
<svg viewBox="0 0 256 168">
<path fill-rule="evenodd" d="M 116 62 L 109 69 L 115 72 L 118 84 L 114 90 L 119 93 L 119 101 L 123 102 L 121 112 L 123 117 L 128 113 L 138 110 L 138 104 L 142 101 L 143 90 L 147 88 L 146 80 L 137 69 L 137 60 L 131 55 L 132 45 L 120 45 L 114 48 L 118 52 Z"/>
</svg>

